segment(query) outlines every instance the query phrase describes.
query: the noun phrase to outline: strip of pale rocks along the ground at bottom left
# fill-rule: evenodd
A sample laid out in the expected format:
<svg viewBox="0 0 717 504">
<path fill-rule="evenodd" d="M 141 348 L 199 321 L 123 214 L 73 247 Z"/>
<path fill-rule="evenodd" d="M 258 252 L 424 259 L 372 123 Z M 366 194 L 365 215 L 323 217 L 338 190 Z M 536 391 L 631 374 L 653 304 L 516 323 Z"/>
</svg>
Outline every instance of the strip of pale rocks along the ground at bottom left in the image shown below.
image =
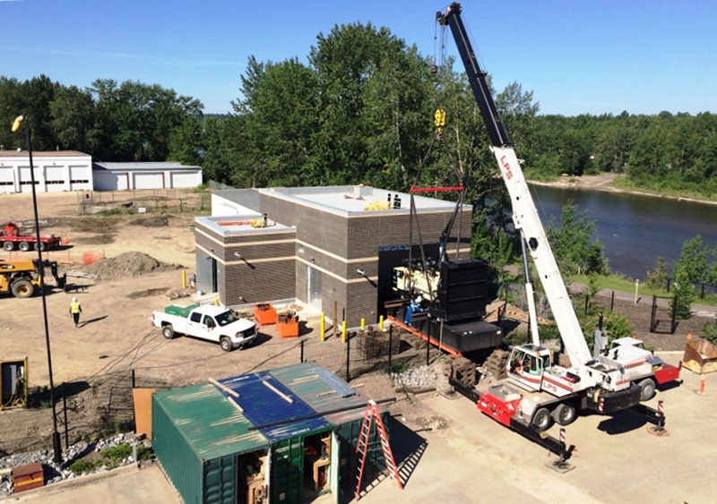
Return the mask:
<svg viewBox="0 0 717 504">
<path fill-rule="evenodd" d="M 39 462 L 42 464 L 42 468 L 45 472 L 45 484 L 52 484 L 61 482 L 63 480 L 72 480 L 76 476 L 68 468 L 76 459 L 87 456 L 91 452 L 99 453 L 100 451 L 116 447 L 122 443 L 132 444 L 134 442 L 141 443 L 143 441 L 137 441 L 133 433 L 117 434 L 107 440 L 99 440 L 96 443 L 85 443 L 80 442 L 70 446 L 69 449 L 63 450 L 62 452 L 62 464 L 56 464 L 54 461 L 52 451 L 42 449 L 39 451 L 31 451 L 27 453 L 16 453 L 7 457 L 0 458 L 0 469 L 13 468 L 19 466 L 26 466 L 28 464 L 35 464 Z M 134 460 L 132 456 L 125 458 L 117 463 L 115 466 L 127 466 L 133 464 Z M 107 471 L 110 467 L 108 466 L 97 466 L 90 473 L 101 473 Z M 13 478 L 10 474 L 0 477 L 0 497 L 11 495 L 13 493 Z"/>
</svg>

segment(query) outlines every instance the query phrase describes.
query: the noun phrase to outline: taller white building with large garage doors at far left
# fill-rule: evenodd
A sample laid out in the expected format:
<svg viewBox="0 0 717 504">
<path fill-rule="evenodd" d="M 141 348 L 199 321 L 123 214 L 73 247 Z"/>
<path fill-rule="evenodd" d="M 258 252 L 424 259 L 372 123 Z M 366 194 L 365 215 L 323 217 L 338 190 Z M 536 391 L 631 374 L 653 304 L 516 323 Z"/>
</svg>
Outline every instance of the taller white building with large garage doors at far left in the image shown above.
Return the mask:
<svg viewBox="0 0 717 504">
<path fill-rule="evenodd" d="M 91 191 L 92 158 L 75 150 L 32 152 L 37 192 Z M 0 150 L 0 192 L 32 192 L 27 150 Z"/>
</svg>

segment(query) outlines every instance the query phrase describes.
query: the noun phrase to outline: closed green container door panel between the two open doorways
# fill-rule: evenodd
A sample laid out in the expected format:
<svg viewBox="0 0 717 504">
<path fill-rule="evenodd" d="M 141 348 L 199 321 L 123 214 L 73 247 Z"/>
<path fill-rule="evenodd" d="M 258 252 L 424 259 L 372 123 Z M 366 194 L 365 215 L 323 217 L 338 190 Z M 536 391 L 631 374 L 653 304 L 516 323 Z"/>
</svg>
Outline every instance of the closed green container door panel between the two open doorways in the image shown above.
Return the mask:
<svg viewBox="0 0 717 504">
<path fill-rule="evenodd" d="M 272 503 L 301 501 L 304 488 L 304 440 L 283 440 L 272 450 Z"/>
</svg>

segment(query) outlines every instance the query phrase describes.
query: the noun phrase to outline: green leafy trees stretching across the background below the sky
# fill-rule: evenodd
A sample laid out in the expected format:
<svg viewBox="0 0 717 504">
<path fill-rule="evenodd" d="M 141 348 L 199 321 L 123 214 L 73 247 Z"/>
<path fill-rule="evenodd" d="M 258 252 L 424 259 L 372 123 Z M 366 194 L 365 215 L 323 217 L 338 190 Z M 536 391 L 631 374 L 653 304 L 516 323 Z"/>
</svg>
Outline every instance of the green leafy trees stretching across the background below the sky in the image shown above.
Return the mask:
<svg viewBox="0 0 717 504">
<path fill-rule="evenodd" d="M 23 114 L 35 149 L 76 149 L 100 161 L 174 160 L 235 187 L 370 184 L 405 192 L 461 181 L 474 207 L 472 251 L 497 265 L 510 261 L 519 251 L 510 201 L 477 104 L 460 64 L 437 63 L 432 72 L 434 58 L 386 28 L 337 25 L 317 36 L 306 63 L 250 57 L 229 115 L 203 115 L 198 99 L 158 84 L 99 79 L 80 89 L 46 75 L 0 77 L 0 121 L 8 124 L 0 145 L 24 147 L 9 128 Z M 717 195 L 711 113 L 539 115 L 516 81 L 495 96 L 529 178 L 609 172 L 626 186 Z M 441 134 L 433 124 L 439 107 L 447 116 Z M 605 273 L 586 218 L 568 209 L 563 222 L 562 231 L 549 228 L 561 266 Z"/>
</svg>

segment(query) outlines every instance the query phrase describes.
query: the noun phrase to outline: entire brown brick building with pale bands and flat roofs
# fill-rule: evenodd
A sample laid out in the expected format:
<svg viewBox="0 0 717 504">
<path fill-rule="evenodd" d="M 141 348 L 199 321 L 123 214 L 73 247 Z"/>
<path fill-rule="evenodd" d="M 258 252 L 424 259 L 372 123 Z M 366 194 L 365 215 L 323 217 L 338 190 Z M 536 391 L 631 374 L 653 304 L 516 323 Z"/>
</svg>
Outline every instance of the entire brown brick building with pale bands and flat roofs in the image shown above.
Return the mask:
<svg viewBox="0 0 717 504">
<path fill-rule="evenodd" d="M 329 317 L 335 309 L 350 326 L 373 323 L 393 268 L 419 257 L 418 243 L 437 259 L 454 218 L 451 201 L 414 196 L 414 206 L 411 218 L 409 194 L 367 186 L 215 192 L 212 217 L 194 222 L 197 288 L 229 306 L 298 300 Z M 454 219 L 452 259 L 456 248 L 458 259 L 470 256 L 471 216 L 464 205 Z"/>
</svg>

